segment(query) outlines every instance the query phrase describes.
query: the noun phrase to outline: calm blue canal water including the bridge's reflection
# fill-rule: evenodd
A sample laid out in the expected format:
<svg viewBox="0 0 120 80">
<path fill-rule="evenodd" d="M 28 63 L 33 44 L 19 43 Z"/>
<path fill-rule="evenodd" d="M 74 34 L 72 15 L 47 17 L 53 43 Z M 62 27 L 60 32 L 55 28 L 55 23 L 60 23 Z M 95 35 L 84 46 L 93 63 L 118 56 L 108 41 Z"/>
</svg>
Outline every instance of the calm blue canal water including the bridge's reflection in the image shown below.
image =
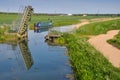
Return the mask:
<svg viewBox="0 0 120 80">
<path fill-rule="evenodd" d="M 28 41 L 0 43 L 0 80 L 69 80 L 67 49 L 45 42 L 48 31 L 29 31 Z"/>
</svg>

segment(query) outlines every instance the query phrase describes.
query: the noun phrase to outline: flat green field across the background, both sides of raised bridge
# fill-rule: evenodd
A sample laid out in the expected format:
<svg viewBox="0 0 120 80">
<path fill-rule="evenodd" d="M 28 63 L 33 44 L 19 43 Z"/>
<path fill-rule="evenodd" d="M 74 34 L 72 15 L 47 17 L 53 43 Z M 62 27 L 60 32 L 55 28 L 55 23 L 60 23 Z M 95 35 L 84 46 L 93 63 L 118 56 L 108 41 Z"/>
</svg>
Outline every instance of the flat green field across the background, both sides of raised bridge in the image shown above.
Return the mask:
<svg viewBox="0 0 120 80">
<path fill-rule="evenodd" d="M 93 19 L 93 18 L 105 18 L 111 16 L 49 16 L 49 15 L 32 15 L 30 22 L 30 29 L 33 29 L 34 23 L 40 21 L 48 21 L 48 19 L 52 20 L 53 25 L 56 26 L 64 26 L 71 25 L 80 22 L 81 19 Z M 1 14 L 0 13 L 0 25 L 9 24 L 11 25 L 14 21 L 19 20 L 22 16 L 18 16 L 18 14 Z"/>
</svg>

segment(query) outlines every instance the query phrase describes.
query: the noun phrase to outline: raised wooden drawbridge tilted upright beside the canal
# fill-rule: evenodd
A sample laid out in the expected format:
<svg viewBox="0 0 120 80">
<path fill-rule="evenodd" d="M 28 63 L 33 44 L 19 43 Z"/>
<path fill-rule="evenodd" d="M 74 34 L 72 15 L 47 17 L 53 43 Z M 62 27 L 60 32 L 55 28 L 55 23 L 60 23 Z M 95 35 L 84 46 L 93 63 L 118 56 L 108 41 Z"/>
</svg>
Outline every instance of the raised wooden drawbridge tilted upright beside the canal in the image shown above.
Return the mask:
<svg viewBox="0 0 120 80">
<path fill-rule="evenodd" d="M 26 38 L 28 36 L 28 25 L 29 22 L 31 21 L 32 13 L 33 13 L 32 6 L 26 6 L 17 32 L 17 36 L 19 39 Z"/>
</svg>

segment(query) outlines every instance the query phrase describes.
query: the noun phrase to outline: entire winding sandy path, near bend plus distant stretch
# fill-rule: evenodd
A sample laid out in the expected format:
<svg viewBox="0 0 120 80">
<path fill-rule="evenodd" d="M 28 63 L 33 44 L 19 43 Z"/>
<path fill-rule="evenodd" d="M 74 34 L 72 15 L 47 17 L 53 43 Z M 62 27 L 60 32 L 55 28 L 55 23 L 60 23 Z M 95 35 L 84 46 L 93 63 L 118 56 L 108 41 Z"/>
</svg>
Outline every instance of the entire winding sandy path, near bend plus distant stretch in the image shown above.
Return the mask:
<svg viewBox="0 0 120 80">
<path fill-rule="evenodd" d="M 80 23 L 71 27 L 71 30 L 78 29 L 79 27 L 95 22 L 102 22 L 108 20 L 115 20 L 120 18 L 96 18 L 86 20 L 83 19 Z M 120 67 L 120 50 L 116 47 L 110 45 L 106 41 L 112 39 L 116 34 L 118 34 L 119 30 L 109 31 L 107 34 L 101 34 L 98 36 L 91 37 L 89 39 L 89 43 L 93 45 L 98 51 L 100 51 L 115 67 Z"/>
</svg>

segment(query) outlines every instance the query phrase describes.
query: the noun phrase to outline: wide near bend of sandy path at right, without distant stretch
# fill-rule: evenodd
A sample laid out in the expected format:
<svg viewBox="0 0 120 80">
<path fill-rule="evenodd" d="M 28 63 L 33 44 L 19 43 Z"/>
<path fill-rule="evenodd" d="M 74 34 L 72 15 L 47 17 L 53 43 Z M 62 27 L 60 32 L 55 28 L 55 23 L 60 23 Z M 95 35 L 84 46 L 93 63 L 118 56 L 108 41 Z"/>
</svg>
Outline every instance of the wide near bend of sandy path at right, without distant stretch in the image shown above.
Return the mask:
<svg viewBox="0 0 120 80">
<path fill-rule="evenodd" d="M 119 30 L 112 30 L 89 39 L 89 43 L 100 51 L 115 67 L 120 67 L 120 50 L 106 41 L 112 39 Z"/>
</svg>

